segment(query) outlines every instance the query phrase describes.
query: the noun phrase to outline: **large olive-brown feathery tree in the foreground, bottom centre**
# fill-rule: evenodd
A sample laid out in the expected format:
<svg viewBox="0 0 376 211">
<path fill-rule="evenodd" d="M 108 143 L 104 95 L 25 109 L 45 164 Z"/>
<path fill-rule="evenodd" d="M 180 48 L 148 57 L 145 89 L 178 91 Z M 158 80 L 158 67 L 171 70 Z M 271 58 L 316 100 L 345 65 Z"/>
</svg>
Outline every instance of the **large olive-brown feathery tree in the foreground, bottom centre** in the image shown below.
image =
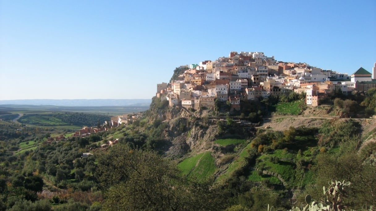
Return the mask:
<svg viewBox="0 0 376 211">
<path fill-rule="evenodd" d="M 218 210 L 219 191 L 191 184 L 174 163 L 151 151 L 116 145 L 99 158 L 99 180 L 106 188 L 104 210 Z M 219 206 L 219 207 L 218 207 Z"/>
</svg>

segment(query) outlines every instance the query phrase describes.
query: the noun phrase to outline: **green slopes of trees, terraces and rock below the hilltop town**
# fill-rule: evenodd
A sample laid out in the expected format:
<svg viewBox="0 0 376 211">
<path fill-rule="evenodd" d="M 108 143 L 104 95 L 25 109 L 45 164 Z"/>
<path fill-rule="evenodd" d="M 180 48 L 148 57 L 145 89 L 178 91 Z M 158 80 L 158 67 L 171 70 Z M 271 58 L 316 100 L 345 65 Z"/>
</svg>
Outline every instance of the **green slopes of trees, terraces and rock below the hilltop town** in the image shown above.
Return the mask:
<svg viewBox="0 0 376 211">
<path fill-rule="evenodd" d="M 374 108 L 369 98 L 356 106 Z M 186 111 L 153 98 L 133 124 L 86 137 L 65 133 L 52 143 L 45 140 L 60 135 L 55 130 L 0 121 L 0 210 L 288 210 L 307 194 L 324 200 L 332 180 L 351 181 L 343 206 L 361 210 L 376 204 L 376 120 L 338 118 L 365 115 L 346 100 L 309 108 L 311 118 L 302 117 L 299 95 L 242 102 L 234 112 L 219 101 L 213 110 Z M 282 112 L 289 104 L 299 116 Z M 97 117 L 60 112 L 20 120 L 96 125 Z"/>
</svg>

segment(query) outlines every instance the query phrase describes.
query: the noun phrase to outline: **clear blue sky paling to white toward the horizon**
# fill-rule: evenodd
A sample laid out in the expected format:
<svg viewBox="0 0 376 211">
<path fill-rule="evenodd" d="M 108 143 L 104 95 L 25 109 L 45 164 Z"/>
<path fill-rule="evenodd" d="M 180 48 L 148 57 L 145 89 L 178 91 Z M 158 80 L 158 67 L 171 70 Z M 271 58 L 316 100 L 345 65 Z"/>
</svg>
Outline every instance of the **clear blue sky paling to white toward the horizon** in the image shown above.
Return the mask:
<svg viewBox="0 0 376 211">
<path fill-rule="evenodd" d="M 0 100 L 152 98 L 175 67 L 261 51 L 352 74 L 376 0 L 0 0 Z"/>
</svg>

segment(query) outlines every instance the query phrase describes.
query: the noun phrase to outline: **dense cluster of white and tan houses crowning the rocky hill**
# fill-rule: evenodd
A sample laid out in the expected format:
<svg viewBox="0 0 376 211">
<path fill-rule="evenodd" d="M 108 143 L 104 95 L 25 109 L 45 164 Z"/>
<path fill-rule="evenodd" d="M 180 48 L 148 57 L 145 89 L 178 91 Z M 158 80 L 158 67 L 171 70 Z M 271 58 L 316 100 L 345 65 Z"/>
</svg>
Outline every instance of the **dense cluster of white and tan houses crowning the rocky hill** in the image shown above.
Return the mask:
<svg viewBox="0 0 376 211">
<path fill-rule="evenodd" d="M 305 93 L 308 106 L 318 106 L 330 93 L 351 95 L 376 87 L 373 74 L 359 68 L 353 74 L 339 73 L 307 63 L 282 62 L 262 52 L 230 52 L 228 57 L 180 66 L 170 83 L 157 84 L 156 96 L 170 107 L 213 107 L 215 100 L 228 101 L 240 110 L 240 101 L 268 98 L 283 93 Z"/>
</svg>

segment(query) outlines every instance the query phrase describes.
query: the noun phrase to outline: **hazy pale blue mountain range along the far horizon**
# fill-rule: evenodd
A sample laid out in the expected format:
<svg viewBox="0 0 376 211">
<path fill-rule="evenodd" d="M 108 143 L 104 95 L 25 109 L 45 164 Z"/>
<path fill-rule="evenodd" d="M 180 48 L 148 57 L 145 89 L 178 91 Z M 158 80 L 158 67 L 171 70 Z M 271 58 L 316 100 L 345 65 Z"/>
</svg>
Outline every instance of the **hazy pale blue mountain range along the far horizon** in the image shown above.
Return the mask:
<svg viewBox="0 0 376 211">
<path fill-rule="evenodd" d="M 0 100 L 0 105 L 149 106 L 151 102 L 151 99 L 14 99 Z"/>
</svg>

